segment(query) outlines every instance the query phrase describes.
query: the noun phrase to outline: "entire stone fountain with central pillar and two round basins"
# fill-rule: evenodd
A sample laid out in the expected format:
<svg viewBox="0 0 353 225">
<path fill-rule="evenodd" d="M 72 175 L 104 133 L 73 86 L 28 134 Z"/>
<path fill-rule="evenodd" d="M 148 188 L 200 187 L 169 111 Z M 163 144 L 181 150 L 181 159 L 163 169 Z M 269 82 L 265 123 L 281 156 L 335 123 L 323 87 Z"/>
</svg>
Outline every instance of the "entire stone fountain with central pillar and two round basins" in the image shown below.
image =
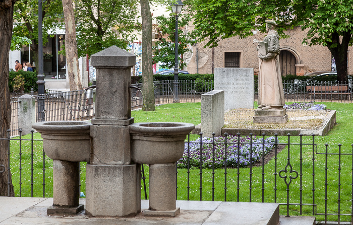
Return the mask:
<svg viewBox="0 0 353 225">
<path fill-rule="evenodd" d="M 91 63 L 97 76 L 92 124 L 53 121 L 33 126 L 42 134 L 45 153 L 54 160 L 53 208 L 73 209 L 50 213 L 48 209 L 47 213 L 75 214 L 82 210 L 78 205 L 80 192 L 76 175 L 79 162 L 86 161 L 86 214 L 128 216 L 139 213 L 140 164 L 144 163 L 150 164 L 150 207 L 145 215 L 177 215 L 180 209 L 175 204 L 176 162 L 183 155 L 186 135 L 195 126 L 188 123 L 134 124 L 130 88 L 135 55 L 112 46 L 92 55 Z M 58 130 L 60 132 L 56 132 Z M 69 200 L 62 201 L 63 196 Z"/>
</svg>

